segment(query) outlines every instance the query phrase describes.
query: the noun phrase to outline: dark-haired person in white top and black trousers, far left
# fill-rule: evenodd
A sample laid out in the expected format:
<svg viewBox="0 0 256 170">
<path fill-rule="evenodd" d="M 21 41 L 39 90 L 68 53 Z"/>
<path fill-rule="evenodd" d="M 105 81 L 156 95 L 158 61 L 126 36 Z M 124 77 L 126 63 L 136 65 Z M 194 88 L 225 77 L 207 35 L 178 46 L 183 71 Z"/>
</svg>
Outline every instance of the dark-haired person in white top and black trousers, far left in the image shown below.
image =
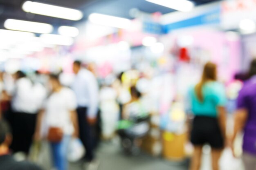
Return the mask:
<svg viewBox="0 0 256 170">
<path fill-rule="evenodd" d="M 34 87 L 22 71 L 13 76 L 15 87 L 11 100 L 10 124 L 13 130 L 13 152 L 24 152 L 28 155 L 36 126 L 36 116 L 46 95 L 38 95 Z"/>
</svg>

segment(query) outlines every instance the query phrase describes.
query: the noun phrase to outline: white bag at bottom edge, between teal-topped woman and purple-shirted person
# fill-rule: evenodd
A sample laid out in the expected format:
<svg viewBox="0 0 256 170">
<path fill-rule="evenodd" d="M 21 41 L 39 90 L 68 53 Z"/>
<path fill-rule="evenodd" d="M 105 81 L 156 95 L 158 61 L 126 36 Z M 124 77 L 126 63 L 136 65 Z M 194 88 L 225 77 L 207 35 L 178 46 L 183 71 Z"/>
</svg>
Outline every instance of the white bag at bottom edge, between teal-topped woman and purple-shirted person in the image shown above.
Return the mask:
<svg viewBox="0 0 256 170">
<path fill-rule="evenodd" d="M 243 162 L 239 158 L 235 158 L 232 150 L 227 148 L 220 158 L 220 170 L 243 170 Z"/>
</svg>

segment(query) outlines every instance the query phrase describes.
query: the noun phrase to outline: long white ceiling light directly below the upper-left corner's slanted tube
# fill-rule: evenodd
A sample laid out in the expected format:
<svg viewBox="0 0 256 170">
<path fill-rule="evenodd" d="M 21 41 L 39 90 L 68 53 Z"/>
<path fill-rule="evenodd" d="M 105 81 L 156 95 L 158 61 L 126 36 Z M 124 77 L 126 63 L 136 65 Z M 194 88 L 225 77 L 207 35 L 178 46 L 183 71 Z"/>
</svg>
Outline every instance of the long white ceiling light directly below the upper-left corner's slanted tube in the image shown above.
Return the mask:
<svg viewBox="0 0 256 170">
<path fill-rule="evenodd" d="M 53 26 L 50 24 L 14 19 L 7 19 L 4 22 L 4 27 L 6 29 L 27 31 L 32 33 L 51 33 L 53 31 Z"/>
</svg>

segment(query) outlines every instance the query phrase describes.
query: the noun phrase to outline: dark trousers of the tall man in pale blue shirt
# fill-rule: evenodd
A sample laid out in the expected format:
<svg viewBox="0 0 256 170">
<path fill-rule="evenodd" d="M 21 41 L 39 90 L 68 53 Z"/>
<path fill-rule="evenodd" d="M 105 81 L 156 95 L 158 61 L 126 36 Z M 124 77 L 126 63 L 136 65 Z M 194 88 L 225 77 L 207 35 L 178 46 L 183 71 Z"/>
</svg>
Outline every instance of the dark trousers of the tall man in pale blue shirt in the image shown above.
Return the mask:
<svg viewBox="0 0 256 170">
<path fill-rule="evenodd" d="M 85 159 L 92 161 L 94 159 L 94 144 L 93 144 L 93 128 L 87 121 L 87 108 L 79 107 L 76 109 L 79 122 L 79 135 L 86 150 Z"/>
</svg>

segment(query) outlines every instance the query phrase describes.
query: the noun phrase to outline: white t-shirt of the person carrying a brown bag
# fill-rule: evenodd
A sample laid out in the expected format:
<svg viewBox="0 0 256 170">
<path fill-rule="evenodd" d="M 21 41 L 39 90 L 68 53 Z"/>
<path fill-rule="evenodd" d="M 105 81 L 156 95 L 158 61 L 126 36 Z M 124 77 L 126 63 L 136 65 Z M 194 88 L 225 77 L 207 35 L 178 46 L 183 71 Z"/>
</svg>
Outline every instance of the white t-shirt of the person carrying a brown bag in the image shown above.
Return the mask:
<svg viewBox="0 0 256 170">
<path fill-rule="evenodd" d="M 63 87 L 61 91 L 52 93 L 45 102 L 46 132 L 49 127 L 62 128 L 65 135 L 72 135 L 74 126 L 70 111 L 76 109 L 76 96 L 70 88 Z"/>
</svg>

